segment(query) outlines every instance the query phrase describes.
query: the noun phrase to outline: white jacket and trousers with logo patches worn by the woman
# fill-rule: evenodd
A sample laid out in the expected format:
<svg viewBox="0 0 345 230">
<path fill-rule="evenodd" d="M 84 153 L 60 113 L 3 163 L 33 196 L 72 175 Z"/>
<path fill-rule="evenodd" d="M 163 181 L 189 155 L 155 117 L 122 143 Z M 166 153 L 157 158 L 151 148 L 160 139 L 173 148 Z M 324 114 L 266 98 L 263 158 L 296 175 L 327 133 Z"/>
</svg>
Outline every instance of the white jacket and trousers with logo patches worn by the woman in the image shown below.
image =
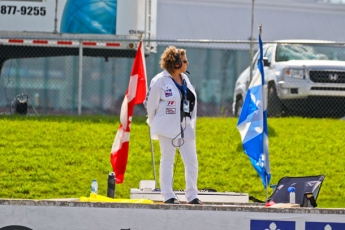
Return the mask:
<svg viewBox="0 0 345 230">
<path fill-rule="evenodd" d="M 150 126 L 151 138 L 159 140 L 161 149 L 160 187 L 163 201 L 175 198 L 172 187 L 175 146 L 183 143 L 179 147 L 179 152 L 185 166 L 186 200 L 190 202 L 198 196 L 198 160 L 195 142 L 197 97 L 188 77 L 185 74 L 181 74 L 181 76 L 195 97 L 194 109 L 190 113 L 191 118 L 184 117 L 181 122 L 182 95 L 166 70 L 151 80 L 144 105 L 148 113 L 147 122 Z M 181 126 L 183 140 L 181 140 Z"/>
</svg>

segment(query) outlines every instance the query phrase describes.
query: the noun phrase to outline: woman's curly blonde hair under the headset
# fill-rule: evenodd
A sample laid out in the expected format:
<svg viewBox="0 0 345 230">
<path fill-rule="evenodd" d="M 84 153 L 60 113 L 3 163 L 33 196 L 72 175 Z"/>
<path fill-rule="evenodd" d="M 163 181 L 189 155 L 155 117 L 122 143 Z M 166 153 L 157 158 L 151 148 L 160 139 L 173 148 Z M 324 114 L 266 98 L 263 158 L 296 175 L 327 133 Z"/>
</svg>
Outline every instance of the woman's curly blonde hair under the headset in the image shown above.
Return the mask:
<svg viewBox="0 0 345 230">
<path fill-rule="evenodd" d="M 181 56 L 185 56 L 186 52 L 186 50 L 177 49 L 175 46 L 167 47 L 161 56 L 161 61 L 159 62 L 161 68 L 166 69 L 168 72 L 175 72 L 177 59 L 180 58 L 181 60 Z"/>
</svg>

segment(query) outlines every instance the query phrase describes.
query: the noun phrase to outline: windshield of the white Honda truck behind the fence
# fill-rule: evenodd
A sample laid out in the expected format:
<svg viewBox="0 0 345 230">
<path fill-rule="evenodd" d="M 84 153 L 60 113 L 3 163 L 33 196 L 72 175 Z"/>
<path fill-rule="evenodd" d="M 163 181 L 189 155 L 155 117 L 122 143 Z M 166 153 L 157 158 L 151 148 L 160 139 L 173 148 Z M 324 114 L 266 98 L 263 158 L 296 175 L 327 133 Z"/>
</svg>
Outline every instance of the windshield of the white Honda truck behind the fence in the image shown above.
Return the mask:
<svg viewBox="0 0 345 230">
<path fill-rule="evenodd" d="M 278 44 L 276 62 L 291 60 L 345 61 L 345 46 L 332 44 Z"/>
</svg>

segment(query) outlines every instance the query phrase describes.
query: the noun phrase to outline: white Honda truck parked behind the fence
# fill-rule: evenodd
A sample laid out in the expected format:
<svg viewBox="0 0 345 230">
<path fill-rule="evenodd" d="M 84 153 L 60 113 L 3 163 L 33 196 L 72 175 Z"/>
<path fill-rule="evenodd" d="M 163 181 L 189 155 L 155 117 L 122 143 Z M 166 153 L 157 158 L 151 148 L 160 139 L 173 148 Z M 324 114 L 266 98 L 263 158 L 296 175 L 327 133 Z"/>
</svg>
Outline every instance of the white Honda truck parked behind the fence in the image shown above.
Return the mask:
<svg viewBox="0 0 345 230">
<path fill-rule="evenodd" d="M 263 46 L 270 117 L 345 115 L 345 46 L 329 41 L 277 41 Z M 253 59 L 253 76 L 258 53 Z M 250 67 L 236 81 L 233 114 L 239 116 Z"/>
</svg>

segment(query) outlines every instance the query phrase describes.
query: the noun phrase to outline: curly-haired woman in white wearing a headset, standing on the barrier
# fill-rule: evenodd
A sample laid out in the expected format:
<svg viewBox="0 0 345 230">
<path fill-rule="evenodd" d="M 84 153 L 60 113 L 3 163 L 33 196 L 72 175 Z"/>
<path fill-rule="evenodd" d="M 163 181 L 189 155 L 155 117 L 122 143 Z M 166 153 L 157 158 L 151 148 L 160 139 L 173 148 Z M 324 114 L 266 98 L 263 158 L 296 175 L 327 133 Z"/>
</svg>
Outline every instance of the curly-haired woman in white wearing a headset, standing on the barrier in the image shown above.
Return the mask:
<svg viewBox="0 0 345 230">
<path fill-rule="evenodd" d="M 163 201 L 167 204 L 180 203 L 172 186 L 176 148 L 179 149 L 185 167 L 187 203 L 202 204 L 197 189 L 197 96 L 184 74 L 188 73 L 188 64 L 186 50 L 167 47 L 160 61 L 164 70 L 151 80 L 144 102 L 151 138 L 158 139 L 160 145 L 160 187 Z"/>
</svg>

